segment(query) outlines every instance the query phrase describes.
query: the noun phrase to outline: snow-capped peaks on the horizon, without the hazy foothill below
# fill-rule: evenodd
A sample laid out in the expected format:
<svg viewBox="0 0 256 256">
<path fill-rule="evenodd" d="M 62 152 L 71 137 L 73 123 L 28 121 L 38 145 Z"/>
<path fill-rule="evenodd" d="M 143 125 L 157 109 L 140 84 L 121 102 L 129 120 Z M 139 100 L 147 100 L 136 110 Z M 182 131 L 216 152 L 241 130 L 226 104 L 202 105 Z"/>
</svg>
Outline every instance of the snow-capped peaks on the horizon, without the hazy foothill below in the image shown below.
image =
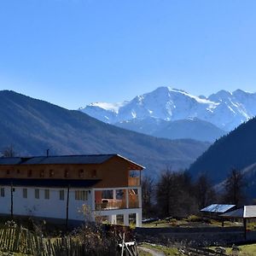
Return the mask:
<svg viewBox="0 0 256 256">
<path fill-rule="evenodd" d="M 201 119 L 231 131 L 256 115 L 256 93 L 220 90 L 211 96 L 193 96 L 184 90 L 159 87 L 136 96 L 131 102 L 91 103 L 80 108 L 84 113 L 109 124 L 131 119 Z"/>
</svg>

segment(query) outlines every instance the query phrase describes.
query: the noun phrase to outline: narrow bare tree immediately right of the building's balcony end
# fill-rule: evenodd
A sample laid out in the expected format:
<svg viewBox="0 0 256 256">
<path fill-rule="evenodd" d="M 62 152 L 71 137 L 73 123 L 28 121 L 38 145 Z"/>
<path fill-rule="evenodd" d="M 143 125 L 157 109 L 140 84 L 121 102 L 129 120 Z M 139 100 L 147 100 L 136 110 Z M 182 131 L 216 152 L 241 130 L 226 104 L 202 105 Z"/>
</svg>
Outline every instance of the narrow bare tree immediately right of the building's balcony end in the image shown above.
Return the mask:
<svg viewBox="0 0 256 256">
<path fill-rule="evenodd" d="M 154 179 L 152 177 L 143 177 L 143 216 L 150 217 L 154 213 Z"/>
</svg>

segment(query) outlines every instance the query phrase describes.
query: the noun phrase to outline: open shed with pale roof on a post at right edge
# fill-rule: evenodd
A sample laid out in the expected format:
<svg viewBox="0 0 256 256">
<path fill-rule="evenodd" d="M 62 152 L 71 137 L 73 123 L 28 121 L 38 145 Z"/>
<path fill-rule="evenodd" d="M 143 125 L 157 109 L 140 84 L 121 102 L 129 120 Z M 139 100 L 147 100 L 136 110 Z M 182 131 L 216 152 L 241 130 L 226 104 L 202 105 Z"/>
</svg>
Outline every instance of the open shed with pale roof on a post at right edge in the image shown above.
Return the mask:
<svg viewBox="0 0 256 256">
<path fill-rule="evenodd" d="M 246 238 L 247 219 L 256 218 L 256 206 L 244 206 L 235 211 L 225 212 L 220 215 L 222 218 L 241 218 L 244 226 L 244 236 Z"/>
</svg>

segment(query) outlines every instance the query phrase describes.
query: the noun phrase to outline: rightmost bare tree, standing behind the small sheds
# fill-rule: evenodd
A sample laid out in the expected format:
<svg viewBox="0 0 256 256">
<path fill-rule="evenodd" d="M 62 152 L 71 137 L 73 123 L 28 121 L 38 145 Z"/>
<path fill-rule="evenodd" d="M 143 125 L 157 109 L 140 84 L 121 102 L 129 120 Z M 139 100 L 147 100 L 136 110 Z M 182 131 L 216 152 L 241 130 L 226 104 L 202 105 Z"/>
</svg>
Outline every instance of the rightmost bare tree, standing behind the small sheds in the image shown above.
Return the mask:
<svg viewBox="0 0 256 256">
<path fill-rule="evenodd" d="M 224 183 L 224 202 L 242 206 L 246 201 L 245 188 L 246 180 L 242 172 L 232 169 Z"/>
</svg>

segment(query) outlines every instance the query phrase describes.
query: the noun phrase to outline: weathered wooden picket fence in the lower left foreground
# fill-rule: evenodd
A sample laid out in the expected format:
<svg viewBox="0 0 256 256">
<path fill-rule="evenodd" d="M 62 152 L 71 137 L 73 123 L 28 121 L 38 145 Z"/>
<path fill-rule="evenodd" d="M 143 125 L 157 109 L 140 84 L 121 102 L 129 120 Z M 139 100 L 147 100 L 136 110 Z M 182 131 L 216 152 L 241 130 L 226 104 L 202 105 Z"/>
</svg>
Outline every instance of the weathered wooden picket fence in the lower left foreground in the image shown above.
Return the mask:
<svg viewBox="0 0 256 256">
<path fill-rule="evenodd" d="M 117 241 L 117 247 L 119 241 Z M 122 254 L 118 252 L 118 249 L 115 250 L 115 248 L 113 248 L 113 252 L 116 252 L 116 255 L 138 255 L 136 243 L 131 243 L 130 245 L 129 243 L 124 243 L 124 240 L 122 242 Z M 25 253 L 33 256 L 104 255 L 104 253 L 92 254 L 88 252 L 86 245 L 79 243 L 79 241 L 73 239 L 72 236 L 55 239 L 44 238 L 16 224 L 12 226 L 0 226 L 0 250 L 5 252 Z M 109 252 L 106 252 L 106 255 L 108 254 Z"/>
</svg>

